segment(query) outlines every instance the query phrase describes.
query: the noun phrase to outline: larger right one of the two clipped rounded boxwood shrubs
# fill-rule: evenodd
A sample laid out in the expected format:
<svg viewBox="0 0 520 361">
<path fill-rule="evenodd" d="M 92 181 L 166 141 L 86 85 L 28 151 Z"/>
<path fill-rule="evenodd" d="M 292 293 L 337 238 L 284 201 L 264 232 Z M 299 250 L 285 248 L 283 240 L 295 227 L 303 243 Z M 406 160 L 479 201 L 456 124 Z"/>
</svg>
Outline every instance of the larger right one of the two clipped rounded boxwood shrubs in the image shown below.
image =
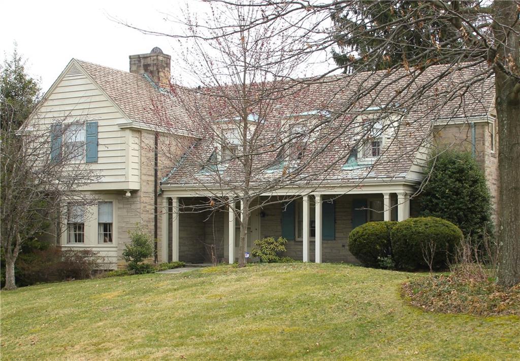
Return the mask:
<svg viewBox="0 0 520 361">
<path fill-rule="evenodd" d="M 437 217 L 398 222 L 390 235 L 396 266 L 406 270 L 429 268 L 425 256 L 431 258 L 432 269 L 445 268 L 463 236 L 459 227 Z"/>
</svg>

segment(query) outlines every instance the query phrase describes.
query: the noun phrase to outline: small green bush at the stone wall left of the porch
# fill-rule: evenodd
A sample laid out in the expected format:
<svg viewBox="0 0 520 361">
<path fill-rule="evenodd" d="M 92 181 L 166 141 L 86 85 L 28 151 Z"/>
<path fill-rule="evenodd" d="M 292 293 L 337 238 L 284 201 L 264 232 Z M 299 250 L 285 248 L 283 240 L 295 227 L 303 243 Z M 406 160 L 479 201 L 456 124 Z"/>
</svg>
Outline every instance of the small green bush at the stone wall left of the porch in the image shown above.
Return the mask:
<svg viewBox="0 0 520 361">
<path fill-rule="evenodd" d="M 137 227 L 133 231 L 128 231 L 130 243 L 125 244 L 123 259 L 127 262 L 127 269 L 136 274 L 150 273 L 153 265 L 144 264 L 145 259 L 153 255 L 153 242 L 151 237 L 142 229 Z"/>
</svg>

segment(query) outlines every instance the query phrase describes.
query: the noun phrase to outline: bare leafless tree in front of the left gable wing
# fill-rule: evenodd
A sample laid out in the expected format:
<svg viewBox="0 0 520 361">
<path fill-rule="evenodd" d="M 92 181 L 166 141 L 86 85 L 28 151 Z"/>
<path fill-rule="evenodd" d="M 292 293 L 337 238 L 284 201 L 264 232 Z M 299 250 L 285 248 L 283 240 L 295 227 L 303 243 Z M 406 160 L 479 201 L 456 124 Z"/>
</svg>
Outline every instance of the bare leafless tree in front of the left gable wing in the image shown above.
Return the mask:
<svg viewBox="0 0 520 361">
<path fill-rule="evenodd" d="M 69 202 L 94 202 L 79 190 L 98 177 L 79 161 L 85 144 L 74 140 L 84 127 L 82 120 L 55 119 L 50 127 L 33 120 L 18 128 L 18 109 L 6 102 L 5 97 L 1 106 L 5 114 L 0 131 L 1 245 L 6 262 L 4 289 L 13 290 L 16 289 L 15 262 L 24 242 L 47 232 L 49 236 L 59 237 L 63 221 L 60 213 Z M 70 141 L 56 147 L 55 139 Z"/>
</svg>

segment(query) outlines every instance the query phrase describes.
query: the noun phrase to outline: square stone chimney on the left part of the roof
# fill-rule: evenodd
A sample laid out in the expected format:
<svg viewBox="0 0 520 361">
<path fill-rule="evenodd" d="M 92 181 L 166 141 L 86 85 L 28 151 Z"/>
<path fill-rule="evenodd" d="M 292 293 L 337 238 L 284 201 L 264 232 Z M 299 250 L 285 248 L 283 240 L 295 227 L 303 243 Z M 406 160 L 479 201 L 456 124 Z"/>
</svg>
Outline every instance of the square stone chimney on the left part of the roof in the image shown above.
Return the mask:
<svg viewBox="0 0 520 361">
<path fill-rule="evenodd" d="M 130 72 L 133 74 L 148 74 L 161 88 L 170 87 L 170 64 L 172 57 L 155 46 L 148 54 L 130 55 Z"/>
</svg>

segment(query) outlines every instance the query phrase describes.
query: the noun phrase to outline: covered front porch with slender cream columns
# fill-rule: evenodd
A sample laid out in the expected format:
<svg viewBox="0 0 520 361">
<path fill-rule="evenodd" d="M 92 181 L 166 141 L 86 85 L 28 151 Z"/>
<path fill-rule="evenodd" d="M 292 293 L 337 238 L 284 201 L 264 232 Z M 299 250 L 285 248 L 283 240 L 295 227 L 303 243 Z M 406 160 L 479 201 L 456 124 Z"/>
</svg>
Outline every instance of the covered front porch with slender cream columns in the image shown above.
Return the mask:
<svg viewBox="0 0 520 361">
<path fill-rule="evenodd" d="M 288 242 L 282 256 L 303 262 L 358 263 L 348 251 L 348 234 L 355 227 L 379 220 L 404 220 L 416 215 L 418 207 L 410 201 L 412 189 L 394 192 L 336 194 L 322 191 L 302 196 L 269 194 L 252 205 L 246 252 L 254 241 L 282 236 Z M 168 222 L 163 223 L 162 254 L 168 260 L 191 263 L 233 263 L 238 259 L 240 202 L 235 209 L 194 211 L 207 197 L 166 196 Z"/>
</svg>

